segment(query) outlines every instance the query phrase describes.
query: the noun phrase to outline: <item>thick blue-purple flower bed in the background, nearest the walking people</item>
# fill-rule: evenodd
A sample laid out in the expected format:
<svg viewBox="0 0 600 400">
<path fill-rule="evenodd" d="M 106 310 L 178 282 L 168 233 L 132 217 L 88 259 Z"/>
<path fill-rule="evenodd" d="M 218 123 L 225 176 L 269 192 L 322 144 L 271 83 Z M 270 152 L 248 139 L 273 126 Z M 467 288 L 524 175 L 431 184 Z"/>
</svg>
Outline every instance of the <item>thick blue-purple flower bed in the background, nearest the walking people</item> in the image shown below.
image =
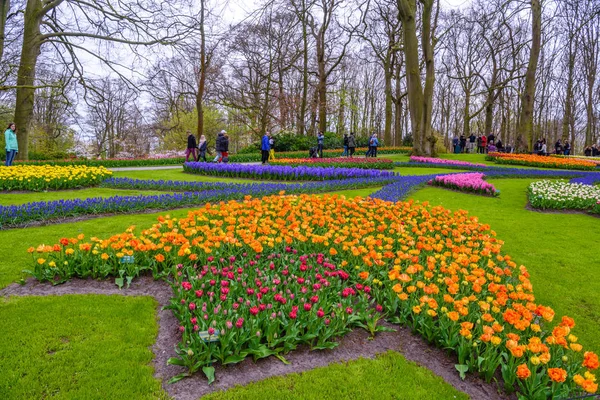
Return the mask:
<svg viewBox="0 0 600 400">
<path fill-rule="evenodd" d="M 252 178 L 289 181 L 330 180 L 343 178 L 380 178 L 395 176 L 395 174 L 390 171 L 367 170 L 362 168 L 210 164 L 203 162 L 185 163 L 183 165 L 183 170 L 192 174 L 228 178 Z"/>
</svg>

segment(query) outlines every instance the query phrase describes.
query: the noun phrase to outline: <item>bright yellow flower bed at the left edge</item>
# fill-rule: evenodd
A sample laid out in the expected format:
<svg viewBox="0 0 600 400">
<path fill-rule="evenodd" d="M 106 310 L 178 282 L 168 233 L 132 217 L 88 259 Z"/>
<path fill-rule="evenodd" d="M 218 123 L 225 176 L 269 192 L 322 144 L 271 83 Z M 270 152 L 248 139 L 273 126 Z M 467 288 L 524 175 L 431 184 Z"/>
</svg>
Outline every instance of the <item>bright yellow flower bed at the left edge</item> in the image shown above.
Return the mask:
<svg viewBox="0 0 600 400">
<path fill-rule="evenodd" d="M 17 165 L 0 168 L 0 190 L 60 190 L 98 185 L 112 174 L 104 167 Z"/>
</svg>

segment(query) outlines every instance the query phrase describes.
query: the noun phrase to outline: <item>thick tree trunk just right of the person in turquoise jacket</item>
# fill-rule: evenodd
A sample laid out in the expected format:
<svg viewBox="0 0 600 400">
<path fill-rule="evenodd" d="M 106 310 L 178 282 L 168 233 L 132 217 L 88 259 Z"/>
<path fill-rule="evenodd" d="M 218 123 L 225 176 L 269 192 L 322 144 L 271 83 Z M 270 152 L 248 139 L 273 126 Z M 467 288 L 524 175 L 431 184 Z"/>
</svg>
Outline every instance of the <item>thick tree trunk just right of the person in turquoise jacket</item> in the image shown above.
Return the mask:
<svg viewBox="0 0 600 400">
<path fill-rule="evenodd" d="M 23 21 L 23 48 L 21 62 L 17 72 L 17 100 L 15 104 L 15 124 L 18 134 L 19 160 L 28 160 L 29 128 L 33 117 L 33 103 L 35 96 L 35 67 L 40 47 L 42 2 L 28 0 Z"/>
</svg>

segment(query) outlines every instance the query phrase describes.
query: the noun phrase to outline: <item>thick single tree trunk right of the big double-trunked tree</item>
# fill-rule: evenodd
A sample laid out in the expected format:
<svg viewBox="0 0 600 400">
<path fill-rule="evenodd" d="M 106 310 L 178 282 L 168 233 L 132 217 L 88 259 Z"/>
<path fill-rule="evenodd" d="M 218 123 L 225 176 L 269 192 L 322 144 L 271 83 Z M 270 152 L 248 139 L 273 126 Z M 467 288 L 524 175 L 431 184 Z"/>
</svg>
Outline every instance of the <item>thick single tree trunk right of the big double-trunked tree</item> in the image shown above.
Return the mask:
<svg viewBox="0 0 600 400">
<path fill-rule="evenodd" d="M 531 52 L 525 74 L 525 88 L 521 96 L 521 110 L 517 128 L 516 148 L 529 152 L 533 146 L 533 106 L 535 97 L 535 73 L 540 57 L 542 37 L 542 6 L 540 0 L 531 0 Z"/>
</svg>

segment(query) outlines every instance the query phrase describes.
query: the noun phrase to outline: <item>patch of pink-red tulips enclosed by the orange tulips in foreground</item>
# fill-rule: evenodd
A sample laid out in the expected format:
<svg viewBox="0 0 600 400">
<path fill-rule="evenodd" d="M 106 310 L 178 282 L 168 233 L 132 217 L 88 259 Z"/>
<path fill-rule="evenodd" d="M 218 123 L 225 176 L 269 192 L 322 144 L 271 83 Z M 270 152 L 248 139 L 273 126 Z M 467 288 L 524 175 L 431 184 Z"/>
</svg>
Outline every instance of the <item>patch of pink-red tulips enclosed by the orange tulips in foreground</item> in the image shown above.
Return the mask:
<svg viewBox="0 0 600 400">
<path fill-rule="evenodd" d="M 381 305 L 360 282 L 368 272 L 335 265 L 323 254 L 281 253 L 217 258 L 202 266 L 179 264 L 169 308 L 179 320 L 180 358 L 170 363 L 188 368 L 177 381 L 202 367 L 214 379 L 214 361 L 234 364 L 246 357 L 277 356 L 308 345 L 332 349 L 335 340 L 363 327 L 374 335 Z"/>
</svg>

